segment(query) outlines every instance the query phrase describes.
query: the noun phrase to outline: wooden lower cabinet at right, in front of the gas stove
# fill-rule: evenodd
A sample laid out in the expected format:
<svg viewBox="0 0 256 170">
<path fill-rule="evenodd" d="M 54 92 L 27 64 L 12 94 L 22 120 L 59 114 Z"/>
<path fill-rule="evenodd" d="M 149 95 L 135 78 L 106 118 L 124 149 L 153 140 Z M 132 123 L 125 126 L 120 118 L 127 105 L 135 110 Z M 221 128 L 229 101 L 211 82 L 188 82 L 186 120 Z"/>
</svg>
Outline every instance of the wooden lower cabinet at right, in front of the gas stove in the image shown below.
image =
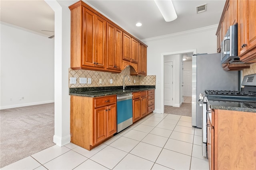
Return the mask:
<svg viewBox="0 0 256 170">
<path fill-rule="evenodd" d="M 255 170 L 256 113 L 213 111 L 207 127 L 210 169 Z"/>
</svg>

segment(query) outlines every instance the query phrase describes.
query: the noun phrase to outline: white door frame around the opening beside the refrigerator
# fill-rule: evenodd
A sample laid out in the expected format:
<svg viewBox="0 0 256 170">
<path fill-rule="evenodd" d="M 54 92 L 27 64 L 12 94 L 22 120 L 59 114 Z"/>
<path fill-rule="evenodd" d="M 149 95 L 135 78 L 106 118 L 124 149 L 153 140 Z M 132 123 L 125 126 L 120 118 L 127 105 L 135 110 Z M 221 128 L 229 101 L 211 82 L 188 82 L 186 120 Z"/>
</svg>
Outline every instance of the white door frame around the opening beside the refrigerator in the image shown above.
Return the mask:
<svg viewBox="0 0 256 170">
<path fill-rule="evenodd" d="M 196 49 L 189 49 L 189 50 L 183 50 L 183 51 L 174 51 L 174 52 L 169 52 L 169 53 L 161 53 L 161 79 L 160 79 L 161 82 L 162 82 L 161 83 L 161 94 L 160 94 L 161 95 L 161 97 L 160 97 L 160 99 L 161 99 L 161 113 L 164 113 L 164 56 L 166 56 L 166 55 L 179 55 L 179 54 L 186 54 L 186 53 L 196 54 Z M 192 72 L 192 74 L 193 74 L 193 72 Z M 193 82 L 192 82 L 192 95 L 193 95 L 193 87 L 194 86 L 196 87 L 196 84 L 193 84 Z M 195 98 L 192 97 L 192 102 L 196 102 L 194 100 L 195 100 Z"/>
</svg>

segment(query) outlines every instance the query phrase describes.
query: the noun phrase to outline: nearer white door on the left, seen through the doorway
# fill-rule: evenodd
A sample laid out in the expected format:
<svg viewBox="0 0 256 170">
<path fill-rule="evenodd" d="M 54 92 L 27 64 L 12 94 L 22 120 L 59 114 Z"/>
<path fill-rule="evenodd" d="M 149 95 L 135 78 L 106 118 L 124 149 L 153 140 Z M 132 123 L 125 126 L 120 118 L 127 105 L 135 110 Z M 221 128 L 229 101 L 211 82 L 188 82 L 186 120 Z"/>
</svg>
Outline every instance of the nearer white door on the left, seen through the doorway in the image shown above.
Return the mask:
<svg viewBox="0 0 256 170">
<path fill-rule="evenodd" d="M 172 106 L 172 62 L 164 62 L 164 105 Z"/>
</svg>

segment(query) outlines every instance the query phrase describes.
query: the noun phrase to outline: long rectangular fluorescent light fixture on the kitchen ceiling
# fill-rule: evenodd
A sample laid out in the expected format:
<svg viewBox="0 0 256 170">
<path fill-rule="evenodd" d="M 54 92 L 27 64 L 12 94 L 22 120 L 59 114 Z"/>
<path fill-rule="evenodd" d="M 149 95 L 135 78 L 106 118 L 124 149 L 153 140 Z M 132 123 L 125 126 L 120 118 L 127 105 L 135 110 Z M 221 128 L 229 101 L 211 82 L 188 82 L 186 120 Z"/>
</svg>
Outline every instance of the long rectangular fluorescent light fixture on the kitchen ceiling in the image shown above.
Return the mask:
<svg viewBox="0 0 256 170">
<path fill-rule="evenodd" d="M 154 1 L 166 22 L 176 20 L 177 14 L 172 4 L 172 0 L 154 0 Z"/>
</svg>

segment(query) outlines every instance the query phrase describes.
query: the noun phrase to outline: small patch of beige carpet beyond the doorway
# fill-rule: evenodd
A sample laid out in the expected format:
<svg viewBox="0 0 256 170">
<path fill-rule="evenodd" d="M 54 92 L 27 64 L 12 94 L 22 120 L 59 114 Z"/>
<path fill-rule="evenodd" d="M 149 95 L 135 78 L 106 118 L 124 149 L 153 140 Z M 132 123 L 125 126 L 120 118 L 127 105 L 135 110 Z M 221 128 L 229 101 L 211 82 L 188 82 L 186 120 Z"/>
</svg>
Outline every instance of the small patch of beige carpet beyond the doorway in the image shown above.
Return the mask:
<svg viewBox="0 0 256 170">
<path fill-rule="evenodd" d="M 192 115 L 192 104 L 182 103 L 180 107 L 164 106 L 164 113 L 190 116 Z"/>
</svg>

